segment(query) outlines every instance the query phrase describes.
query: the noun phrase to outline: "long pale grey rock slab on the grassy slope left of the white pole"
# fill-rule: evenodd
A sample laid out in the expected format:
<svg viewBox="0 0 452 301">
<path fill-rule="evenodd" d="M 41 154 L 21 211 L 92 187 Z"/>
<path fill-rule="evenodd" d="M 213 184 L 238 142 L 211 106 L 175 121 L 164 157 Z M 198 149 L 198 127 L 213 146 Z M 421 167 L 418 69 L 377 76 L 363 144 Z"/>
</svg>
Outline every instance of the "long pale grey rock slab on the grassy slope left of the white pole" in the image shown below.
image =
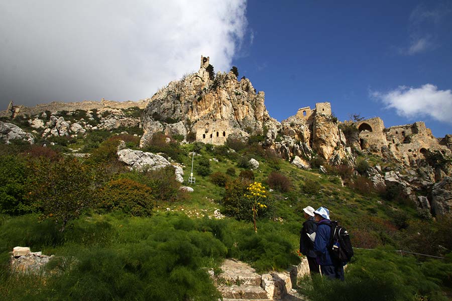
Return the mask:
<svg viewBox="0 0 452 301">
<path fill-rule="evenodd" d="M 145 153 L 141 150 L 133 150 L 130 148 L 120 149 L 117 152 L 119 161 L 129 166 L 131 170 L 144 172 L 146 170 L 157 170 L 171 165 L 171 163 L 160 155 Z M 180 183 L 184 182 L 184 172 L 180 166 L 174 167 L 176 180 Z"/>
</svg>

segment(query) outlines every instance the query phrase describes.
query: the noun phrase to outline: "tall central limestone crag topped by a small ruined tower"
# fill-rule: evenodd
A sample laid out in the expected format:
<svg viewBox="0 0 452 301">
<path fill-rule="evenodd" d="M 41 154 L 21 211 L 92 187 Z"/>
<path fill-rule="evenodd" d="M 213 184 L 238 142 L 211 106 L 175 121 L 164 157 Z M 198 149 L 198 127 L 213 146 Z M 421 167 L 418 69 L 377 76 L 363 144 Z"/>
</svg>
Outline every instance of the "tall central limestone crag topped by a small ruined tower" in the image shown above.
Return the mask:
<svg viewBox="0 0 452 301">
<path fill-rule="evenodd" d="M 256 93 L 249 79 L 238 81 L 232 71 L 213 75 L 208 69 L 209 58 L 201 56 L 198 72 L 170 82 L 149 99 L 141 145 L 162 130 L 193 132 L 197 141 L 212 144 L 223 144 L 229 136 L 262 133 L 264 126 L 276 136 L 279 123 L 265 108 L 264 92 Z"/>
</svg>

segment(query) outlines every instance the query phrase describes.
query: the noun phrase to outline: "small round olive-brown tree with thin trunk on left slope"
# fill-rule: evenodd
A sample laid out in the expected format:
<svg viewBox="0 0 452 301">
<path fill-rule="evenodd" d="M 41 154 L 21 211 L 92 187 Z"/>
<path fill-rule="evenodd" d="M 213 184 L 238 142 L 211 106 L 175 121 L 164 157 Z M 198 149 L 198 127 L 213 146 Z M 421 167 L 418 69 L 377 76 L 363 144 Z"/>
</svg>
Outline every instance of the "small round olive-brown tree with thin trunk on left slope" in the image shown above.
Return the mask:
<svg viewBox="0 0 452 301">
<path fill-rule="evenodd" d="M 57 162 L 40 158 L 30 162 L 29 170 L 27 189 L 31 206 L 44 218 L 61 224 L 61 232 L 68 222 L 93 207 L 94 177 L 88 165 L 72 157 Z"/>
</svg>

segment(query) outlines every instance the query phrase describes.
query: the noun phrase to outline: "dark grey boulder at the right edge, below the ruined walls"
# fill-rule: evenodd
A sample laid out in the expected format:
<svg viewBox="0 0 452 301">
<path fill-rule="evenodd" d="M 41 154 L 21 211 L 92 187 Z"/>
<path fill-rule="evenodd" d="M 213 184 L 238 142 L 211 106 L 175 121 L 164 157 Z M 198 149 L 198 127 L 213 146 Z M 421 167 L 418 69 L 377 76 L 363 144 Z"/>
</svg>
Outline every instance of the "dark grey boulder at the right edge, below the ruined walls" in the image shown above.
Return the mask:
<svg viewBox="0 0 452 301">
<path fill-rule="evenodd" d="M 445 177 L 433 185 L 431 191 L 431 207 L 434 215 L 452 213 L 452 178 Z"/>
</svg>

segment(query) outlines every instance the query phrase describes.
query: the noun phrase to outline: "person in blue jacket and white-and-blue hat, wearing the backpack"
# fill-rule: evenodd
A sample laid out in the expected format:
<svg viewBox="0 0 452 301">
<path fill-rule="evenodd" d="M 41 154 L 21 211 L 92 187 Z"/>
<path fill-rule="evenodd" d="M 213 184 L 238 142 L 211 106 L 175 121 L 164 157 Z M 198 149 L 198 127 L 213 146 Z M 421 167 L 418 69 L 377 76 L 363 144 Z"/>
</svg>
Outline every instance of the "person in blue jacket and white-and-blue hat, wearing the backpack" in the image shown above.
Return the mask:
<svg viewBox="0 0 452 301">
<path fill-rule="evenodd" d="M 342 262 L 334 262 L 328 251 L 329 243 L 331 241 L 329 210 L 325 207 L 318 208 L 314 211 L 314 218 L 317 221 L 314 251 L 317 254 L 317 262 L 320 264 L 322 275 L 344 281 L 344 267 Z"/>
</svg>

